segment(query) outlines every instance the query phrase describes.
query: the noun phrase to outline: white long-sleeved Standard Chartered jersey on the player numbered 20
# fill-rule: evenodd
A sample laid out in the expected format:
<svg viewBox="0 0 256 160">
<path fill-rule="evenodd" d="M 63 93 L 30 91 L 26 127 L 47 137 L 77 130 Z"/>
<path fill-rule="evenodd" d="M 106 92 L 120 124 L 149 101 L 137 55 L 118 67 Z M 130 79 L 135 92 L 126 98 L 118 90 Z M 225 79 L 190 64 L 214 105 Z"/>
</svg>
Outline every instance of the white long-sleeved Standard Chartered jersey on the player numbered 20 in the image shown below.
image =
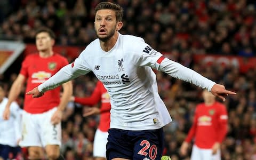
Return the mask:
<svg viewBox="0 0 256 160">
<path fill-rule="evenodd" d="M 108 52 L 103 51 L 99 39 L 95 39 L 72 64 L 63 67 L 38 89 L 45 92 L 93 71 L 110 95 L 110 128 L 159 129 L 172 119 L 159 97 L 156 75 L 151 68 L 208 90 L 215 84 L 180 63 L 164 58 L 142 38 L 119 34 L 115 46 Z"/>
</svg>

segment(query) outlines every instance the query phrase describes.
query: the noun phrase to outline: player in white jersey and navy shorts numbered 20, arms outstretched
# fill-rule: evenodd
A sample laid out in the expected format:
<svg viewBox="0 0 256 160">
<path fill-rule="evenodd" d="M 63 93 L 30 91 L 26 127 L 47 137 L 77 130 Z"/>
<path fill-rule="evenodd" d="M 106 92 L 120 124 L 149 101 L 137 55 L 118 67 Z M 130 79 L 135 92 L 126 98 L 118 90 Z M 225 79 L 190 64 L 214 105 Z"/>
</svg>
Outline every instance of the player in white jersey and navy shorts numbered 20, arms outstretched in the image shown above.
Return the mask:
<svg viewBox="0 0 256 160">
<path fill-rule="evenodd" d="M 222 100 L 236 93 L 165 58 L 142 38 L 120 34 L 122 17 L 121 6 L 99 3 L 94 21 L 98 38 L 73 63 L 27 94 L 41 97 L 47 90 L 93 71 L 110 95 L 107 159 L 161 159 L 163 126 L 172 119 L 157 92 L 152 68 L 207 89 Z"/>
</svg>

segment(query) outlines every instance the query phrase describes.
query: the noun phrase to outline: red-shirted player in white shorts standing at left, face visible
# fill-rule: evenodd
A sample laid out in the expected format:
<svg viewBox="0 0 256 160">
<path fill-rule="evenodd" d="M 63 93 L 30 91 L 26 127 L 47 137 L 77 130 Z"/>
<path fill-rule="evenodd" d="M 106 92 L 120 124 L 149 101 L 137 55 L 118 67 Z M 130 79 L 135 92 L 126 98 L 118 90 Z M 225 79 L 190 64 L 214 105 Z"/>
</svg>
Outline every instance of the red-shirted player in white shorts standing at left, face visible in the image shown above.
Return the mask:
<svg viewBox="0 0 256 160">
<path fill-rule="evenodd" d="M 22 62 L 20 73 L 11 86 L 4 119 L 9 118 L 10 105 L 17 99 L 25 82 L 26 91 L 29 91 L 68 64 L 65 57 L 52 50 L 55 38 L 52 30 L 40 28 L 36 31 L 35 38 L 38 53 L 28 55 Z M 28 147 L 29 159 L 40 159 L 43 156 L 42 147 L 45 148 L 48 159 L 57 159 L 60 156 L 62 110 L 73 94 L 71 82 L 63 83 L 62 87 L 61 99 L 60 87 L 45 93 L 42 99 L 25 95 L 20 146 Z"/>
</svg>

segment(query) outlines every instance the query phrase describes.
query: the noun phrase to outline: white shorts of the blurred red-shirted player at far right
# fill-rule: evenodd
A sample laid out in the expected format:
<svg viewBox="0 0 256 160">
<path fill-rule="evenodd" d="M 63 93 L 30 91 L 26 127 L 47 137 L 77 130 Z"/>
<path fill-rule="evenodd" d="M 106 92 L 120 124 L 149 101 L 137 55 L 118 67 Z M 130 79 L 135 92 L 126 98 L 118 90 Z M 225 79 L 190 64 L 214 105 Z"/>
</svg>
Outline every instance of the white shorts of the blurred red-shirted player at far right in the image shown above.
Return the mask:
<svg viewBox="0 0 256 160">
<path fill-rule="evenodd" d="M 192 154 L 190 160 L 221 160 L 220 149 L 217 151 L 217 154 L 212 154 L 212 149 L 201 149 L 196 145 L 193 145 Z"/>
</svg>

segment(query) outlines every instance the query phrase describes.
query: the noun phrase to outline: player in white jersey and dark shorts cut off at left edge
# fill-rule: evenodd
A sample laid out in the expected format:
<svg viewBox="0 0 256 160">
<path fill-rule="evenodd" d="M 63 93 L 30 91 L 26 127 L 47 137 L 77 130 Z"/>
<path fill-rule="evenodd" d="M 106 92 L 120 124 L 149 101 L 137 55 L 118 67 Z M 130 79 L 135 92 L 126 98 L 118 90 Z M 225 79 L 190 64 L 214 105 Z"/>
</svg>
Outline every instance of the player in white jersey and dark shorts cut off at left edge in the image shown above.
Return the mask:
<svg viewBox="0 0 256 160">
<path fill-rule="evenodd" d="M 0 83 L 0 114 L 4 112 L 5 105 L 8 99 L 5 97 L 4 85 Z M 21 139 L 21 112 L 22 109 L 16 102 L 12 102 L 10 105 L 10 119 L 3 121 L 0 117 L 0 157 L 3 159 L 15 158 L 17 154 L 21 153 L 21 148 L 18 143 Z"/>
</svg>

